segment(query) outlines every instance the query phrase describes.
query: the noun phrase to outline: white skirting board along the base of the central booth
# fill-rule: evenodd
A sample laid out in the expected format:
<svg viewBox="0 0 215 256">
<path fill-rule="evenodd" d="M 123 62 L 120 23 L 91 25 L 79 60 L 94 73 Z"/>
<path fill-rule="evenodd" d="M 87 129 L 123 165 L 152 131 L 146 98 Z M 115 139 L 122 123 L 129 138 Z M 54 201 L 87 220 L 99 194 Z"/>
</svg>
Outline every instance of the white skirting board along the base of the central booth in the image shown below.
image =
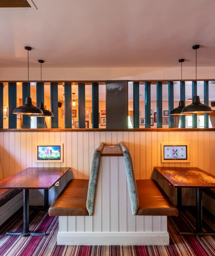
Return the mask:
<svg viewBox="0 0 215 256">
<path fill-rule="evenodd" d="M 168 232 L 72 233 L 58 232 L 58 245 L 169 245 Z"/>
</svg>

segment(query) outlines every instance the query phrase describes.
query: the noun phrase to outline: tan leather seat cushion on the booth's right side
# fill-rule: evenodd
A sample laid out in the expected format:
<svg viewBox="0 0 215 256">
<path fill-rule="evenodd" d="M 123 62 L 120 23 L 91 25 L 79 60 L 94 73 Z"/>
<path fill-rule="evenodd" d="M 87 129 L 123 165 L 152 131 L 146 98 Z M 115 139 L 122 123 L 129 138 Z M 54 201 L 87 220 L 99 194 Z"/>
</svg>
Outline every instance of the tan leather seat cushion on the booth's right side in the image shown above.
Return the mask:
<svg viewBox="0 0 215 256">
<path fill-rule="evenodd" d="M 154 180 L 136 180 L 139 199 L 137 215 L 177 216 L 177 208 Z"/>
</svg>

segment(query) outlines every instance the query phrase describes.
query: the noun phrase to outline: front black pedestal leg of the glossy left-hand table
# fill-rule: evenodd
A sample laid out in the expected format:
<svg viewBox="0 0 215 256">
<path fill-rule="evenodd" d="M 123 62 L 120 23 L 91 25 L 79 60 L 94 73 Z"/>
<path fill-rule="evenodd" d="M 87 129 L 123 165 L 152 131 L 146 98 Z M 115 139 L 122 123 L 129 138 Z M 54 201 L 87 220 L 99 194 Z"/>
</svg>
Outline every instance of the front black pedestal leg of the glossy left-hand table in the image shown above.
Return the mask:
<svg viewBox="0 0 215 256">
<path fill-rule="evenodd" d="M 23 230 L 22 232 L 6 232 L 6 235 L 20 235 L 22 237 L 34 235 L 45 236 L 45 232 L 29 231 L 29 189 L 23 189 Z"/>
</svg>

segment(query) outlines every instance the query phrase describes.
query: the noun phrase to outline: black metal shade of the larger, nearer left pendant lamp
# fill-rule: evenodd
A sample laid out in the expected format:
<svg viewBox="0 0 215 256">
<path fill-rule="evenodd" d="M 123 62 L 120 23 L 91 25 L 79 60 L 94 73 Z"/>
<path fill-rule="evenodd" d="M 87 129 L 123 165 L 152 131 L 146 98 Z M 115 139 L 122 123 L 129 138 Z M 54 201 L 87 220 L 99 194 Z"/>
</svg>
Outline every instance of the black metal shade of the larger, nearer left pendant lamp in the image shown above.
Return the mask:
<svg viewBox="0 0 215 256">
<path fill-rule="evenodd" d="M 32 104 L 31 98 L 25 98 L 25 102 L 22 106 L 16 107 L 13 114 L 30 114 L 30 115 L 39 115 L 43 114 L 42 110 Z"/>
</svg>

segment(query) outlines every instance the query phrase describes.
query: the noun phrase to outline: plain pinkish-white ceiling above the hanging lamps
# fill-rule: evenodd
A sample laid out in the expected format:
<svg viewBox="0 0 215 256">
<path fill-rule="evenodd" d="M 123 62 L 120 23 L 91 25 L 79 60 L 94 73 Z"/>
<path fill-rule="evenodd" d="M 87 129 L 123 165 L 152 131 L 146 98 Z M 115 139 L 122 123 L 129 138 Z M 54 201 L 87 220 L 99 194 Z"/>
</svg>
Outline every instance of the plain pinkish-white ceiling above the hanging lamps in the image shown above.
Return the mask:
<svg viewBox="0 0 215 256">
<path fill-rule="evenodd" d="M 197 65 L 215 66 L 215 1 L 31 2 L 0 8 L 0 67 L 26 67 L 24 46 L 30 67 L 193 67 L 195 44 Z"/>
</svg>

